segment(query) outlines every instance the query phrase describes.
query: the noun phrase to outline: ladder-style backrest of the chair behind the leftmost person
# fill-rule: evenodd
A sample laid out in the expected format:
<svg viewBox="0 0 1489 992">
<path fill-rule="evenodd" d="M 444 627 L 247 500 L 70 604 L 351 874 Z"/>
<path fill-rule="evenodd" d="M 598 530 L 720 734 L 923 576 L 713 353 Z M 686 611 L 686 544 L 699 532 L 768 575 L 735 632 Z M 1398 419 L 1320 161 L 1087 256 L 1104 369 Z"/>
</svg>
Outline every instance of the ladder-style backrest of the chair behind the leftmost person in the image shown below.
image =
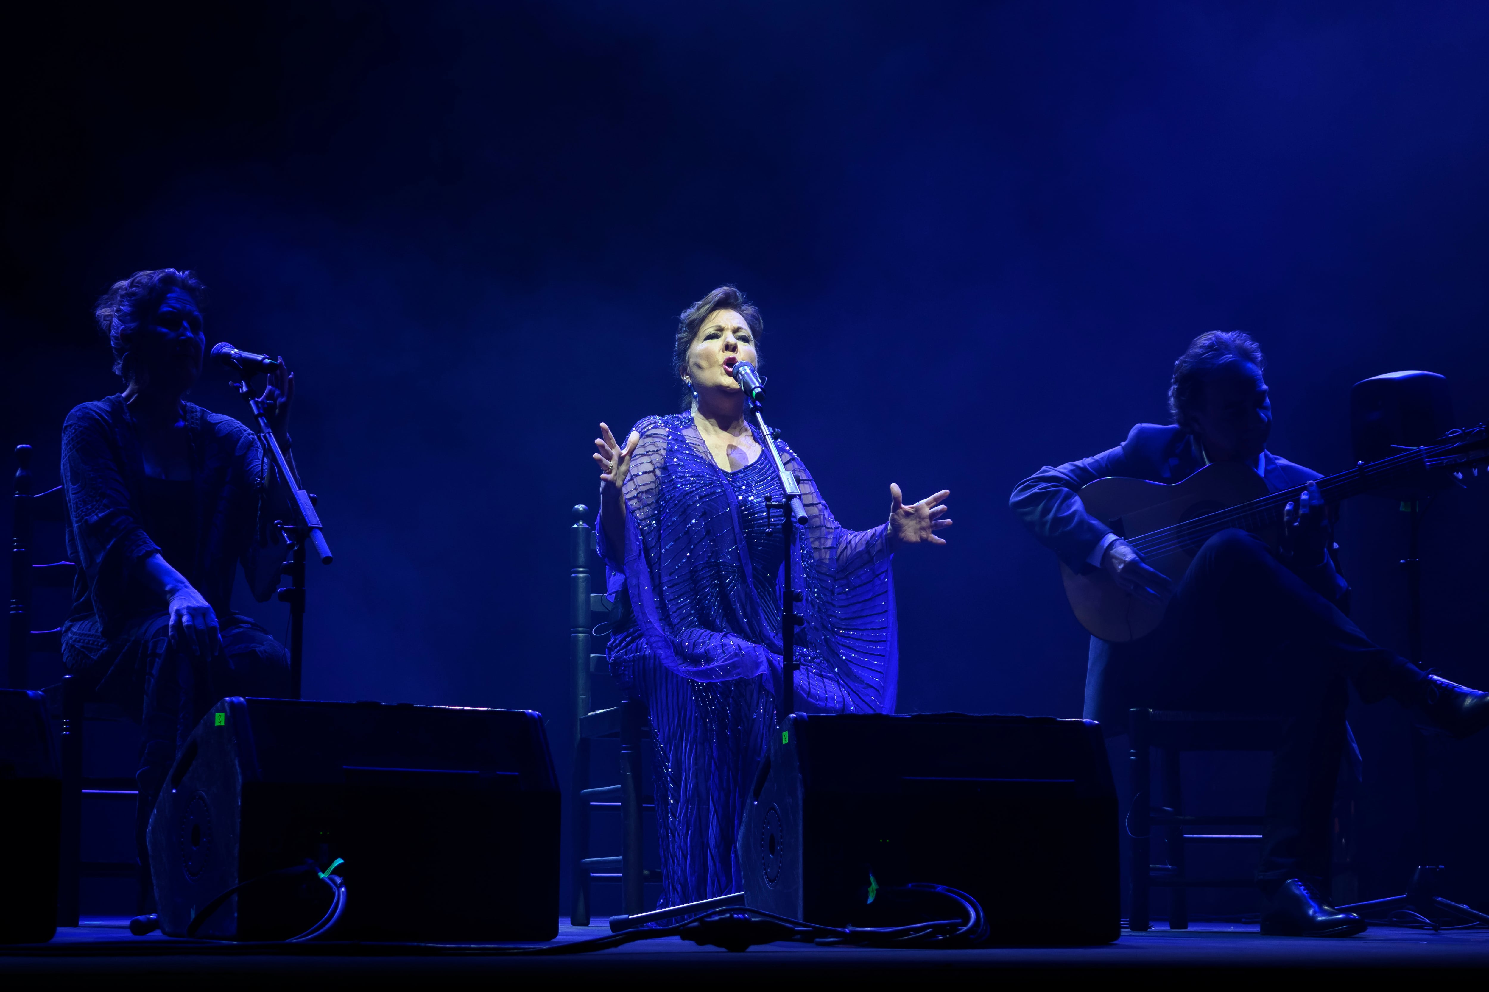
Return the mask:
<svg viewBox="0 0 1489 992">
<path fill-rule="evenodd" d="M 37 587 L 66 589 L 73 584 L 77 565 L 70 561 L 33 564 L 31 544 L 37 524 L 63 524 L 67 519 L 67 498 L 61 486 L 36 492 L 31 477 L 31 446 L 15 449 L 15 495 L 10 500 L 10 626 L 6 657 L 6 684 L 27 689 L 31 654 L 57 654 L 63 650 L 63 631 L 31 629 L 31 592 Z"/>
</svg>

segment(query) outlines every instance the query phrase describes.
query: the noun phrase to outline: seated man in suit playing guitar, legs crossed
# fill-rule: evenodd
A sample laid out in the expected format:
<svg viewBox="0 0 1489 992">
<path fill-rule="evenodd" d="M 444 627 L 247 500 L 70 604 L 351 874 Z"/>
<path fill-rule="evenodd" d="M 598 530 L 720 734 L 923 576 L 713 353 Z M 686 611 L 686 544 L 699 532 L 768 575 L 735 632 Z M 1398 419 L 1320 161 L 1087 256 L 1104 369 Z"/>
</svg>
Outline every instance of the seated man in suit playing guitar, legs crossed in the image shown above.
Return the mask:
<svg viewBox="0 0 1489 992">
<path fill-rule="evenodd" d="M 1459 738 L 1489 724 L 1489 695 L 1423 672 L 1349 620 L 1349 586 L 1330 555 L 1331 512 L 1313 485 L 1319 474 L 1266 449 L 1272 403 L 1264 366 L 1249 335 L 1200 335 L 1173 363 L 1172 425 L 1138 424 L 1111 451 L 1041 468 L 1014 488 L 1010 506 L 1071 568 L 1105 570 L 1130 595 L 1167 604 L 1163 623 L 1144 638 L 1091 638 L 1088 720 L 1121 733 L 1132 706 L 1286 718 L 1257 870 L 1269 897 L 1261 933 L 1348 937 L 1365 924 L 1328 906 L 1324 888 L 1346 683 L 1365 702 L 1391 696 Z M 1176 483 L 1219 461 L 1254 468 L 1272 492 L 1306 486 L 1286 506 L 1279 553 L 1245 531 L 1221 531 L 1182 577 L 1163 576 L 1077 495 L 1106 476 Z"/>
</svg>

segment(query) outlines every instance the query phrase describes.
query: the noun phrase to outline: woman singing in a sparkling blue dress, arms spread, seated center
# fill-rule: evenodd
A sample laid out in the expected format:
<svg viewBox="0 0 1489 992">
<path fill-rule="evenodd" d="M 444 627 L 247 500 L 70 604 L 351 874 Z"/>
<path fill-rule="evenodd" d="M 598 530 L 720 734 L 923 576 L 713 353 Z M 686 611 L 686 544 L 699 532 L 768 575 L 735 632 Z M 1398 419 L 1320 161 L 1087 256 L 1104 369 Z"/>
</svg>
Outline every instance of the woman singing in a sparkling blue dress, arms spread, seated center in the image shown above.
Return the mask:
<svg viewBox="0 0 1489 992">
<path fill-rule="evenodd" d="M 628 698 L 651 714 L 663 904 L 743 888 L 734 836 L 776 723 L 780 687 L 780 476 L 746 419 L 730 370 L 758 364 L 759 311 L 722 286 L 683 311 L 673 367 L 683 412 L 648 416 L 619 445 L 600 424 L 597 541 L 618 605 L 608 654 Z M 898 674 L 890 556 L 944 544 L 941 491 L 905 506 L 890 483 L 889 522 L 849 531 L 801 460 L 792 582 L 804 592 L 797 692 L 828 712 L 892 712 Z"/>
</svg>

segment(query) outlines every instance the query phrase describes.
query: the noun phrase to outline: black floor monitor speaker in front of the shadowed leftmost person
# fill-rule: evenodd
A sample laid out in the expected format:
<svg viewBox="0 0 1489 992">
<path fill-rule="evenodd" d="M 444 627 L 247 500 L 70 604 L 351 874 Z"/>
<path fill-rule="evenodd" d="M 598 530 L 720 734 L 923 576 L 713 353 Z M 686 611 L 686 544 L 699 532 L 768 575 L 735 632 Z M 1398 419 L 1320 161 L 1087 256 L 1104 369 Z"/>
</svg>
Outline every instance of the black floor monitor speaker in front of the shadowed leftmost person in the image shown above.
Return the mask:
<svg viewBox="0 0 1489 992">
<path fill-rule="evenodd" d="M 542 717 L 512 709 L 241 699 L 192 732 L 150 817 L 161 928 L 246 886 L 197 937 L 283 940 L 344 860 L 357 940 L 485 943 L 558 931 L 558 782 Z"/>
</svg>

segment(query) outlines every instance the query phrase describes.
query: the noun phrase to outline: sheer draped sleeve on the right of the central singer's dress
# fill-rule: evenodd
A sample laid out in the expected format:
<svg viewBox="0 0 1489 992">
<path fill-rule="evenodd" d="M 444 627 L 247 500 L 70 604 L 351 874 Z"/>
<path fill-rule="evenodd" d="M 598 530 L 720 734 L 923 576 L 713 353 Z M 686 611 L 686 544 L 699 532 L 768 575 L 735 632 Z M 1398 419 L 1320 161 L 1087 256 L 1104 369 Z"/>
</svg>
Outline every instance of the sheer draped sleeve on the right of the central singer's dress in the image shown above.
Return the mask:
<svg viewBox="0 0 1489 992">
<path fill-rule="evenodd" d="M 807 510 L 797 552 L 807 619 L 798 692 L 834 712 L 893 712 L 899 650 L 889 525 L 844 528 L 795 452 L 782 445 L 782 457 Z"/>
</svg>

